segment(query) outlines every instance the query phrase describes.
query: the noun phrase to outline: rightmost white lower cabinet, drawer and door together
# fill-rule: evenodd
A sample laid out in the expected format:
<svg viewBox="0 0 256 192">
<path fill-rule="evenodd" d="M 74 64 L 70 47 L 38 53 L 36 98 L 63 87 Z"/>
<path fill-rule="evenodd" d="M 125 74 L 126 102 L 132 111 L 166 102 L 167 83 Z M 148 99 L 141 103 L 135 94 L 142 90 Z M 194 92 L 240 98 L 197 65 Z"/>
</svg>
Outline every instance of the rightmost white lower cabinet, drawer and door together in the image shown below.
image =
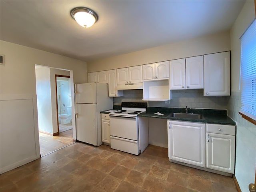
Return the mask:
<svg viewBox="0 0 256 192">
<path fill-rule="evenodd" d="M 206 131 L 206 168 L 234 174 L 235 126 L 206 124 Z"/>
</svg>

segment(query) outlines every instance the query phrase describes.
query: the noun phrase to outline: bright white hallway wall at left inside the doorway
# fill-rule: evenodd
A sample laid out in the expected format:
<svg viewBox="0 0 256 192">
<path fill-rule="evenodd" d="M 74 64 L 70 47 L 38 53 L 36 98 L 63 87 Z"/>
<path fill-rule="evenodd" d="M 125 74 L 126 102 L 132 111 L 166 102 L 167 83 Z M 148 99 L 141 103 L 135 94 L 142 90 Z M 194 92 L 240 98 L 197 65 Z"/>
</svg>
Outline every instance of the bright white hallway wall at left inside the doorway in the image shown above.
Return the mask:
<svg viewBox="0 0 256 192">
<path fill-rule="evenodd" d="M 50 68 L 36 68 L 38 129 L 53 134 Z"/>
</svg>

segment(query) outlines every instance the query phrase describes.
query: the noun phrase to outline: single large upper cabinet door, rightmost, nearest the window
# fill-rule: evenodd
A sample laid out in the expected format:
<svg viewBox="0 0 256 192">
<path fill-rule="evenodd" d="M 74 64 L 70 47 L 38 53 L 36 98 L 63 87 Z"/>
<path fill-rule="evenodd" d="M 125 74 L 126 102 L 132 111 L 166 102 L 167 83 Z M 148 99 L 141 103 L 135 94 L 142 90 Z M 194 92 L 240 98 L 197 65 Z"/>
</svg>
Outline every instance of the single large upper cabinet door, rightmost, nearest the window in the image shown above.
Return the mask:
<svg viewBox="0 0 256 192">
<path fill-rule="evenodd" d="M 230 52 L 204 55 L 204 96 L 230 95 Z"/>
</svg>

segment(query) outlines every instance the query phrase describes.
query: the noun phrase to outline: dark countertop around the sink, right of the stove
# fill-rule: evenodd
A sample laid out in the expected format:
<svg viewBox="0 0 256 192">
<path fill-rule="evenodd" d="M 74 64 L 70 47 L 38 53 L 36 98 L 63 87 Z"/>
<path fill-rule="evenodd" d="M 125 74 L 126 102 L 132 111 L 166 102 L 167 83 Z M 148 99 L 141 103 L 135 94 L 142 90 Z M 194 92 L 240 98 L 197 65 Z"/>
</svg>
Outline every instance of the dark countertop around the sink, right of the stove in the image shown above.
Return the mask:
<svg viewBox="0 0 256 192">
<path fill-rule="evenodd" d="M 164 115 L 154 114 L 160 112 Z M 148 118 L 161 118 L 168 120 L 179 120 L 179 121 L 189 121 L 189 122 L 202 122 L 210 124 L 223 124 L 223 125 L 236 125 L 229 116 L 226 115 L 226 110 L 211 110 L 211 109 L 189 109 L 189 113 L 202 114 L 202 119 L 189 119 L 189 118 L 176 118 L 169 116 L 170 113 L 185 112 L 184 108 L 159 108 L 159 107 L 148 107 L 146 112 L 138 114 L 139 117 Z"/>
</svg>

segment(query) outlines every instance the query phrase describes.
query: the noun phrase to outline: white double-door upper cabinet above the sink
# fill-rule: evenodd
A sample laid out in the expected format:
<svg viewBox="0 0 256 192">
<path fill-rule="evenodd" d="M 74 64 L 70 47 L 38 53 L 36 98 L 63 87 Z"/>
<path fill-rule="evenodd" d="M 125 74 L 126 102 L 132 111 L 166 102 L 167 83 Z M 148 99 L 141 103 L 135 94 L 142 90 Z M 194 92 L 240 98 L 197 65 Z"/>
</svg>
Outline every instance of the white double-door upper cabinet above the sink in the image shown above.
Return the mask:
<svg viewBox="0 0 256 192">
<path fill-rule="evenodd" d="M 170 61 L 170 90 L 202 88 L 204 88 L 203 56 Z"/>
</svg>

